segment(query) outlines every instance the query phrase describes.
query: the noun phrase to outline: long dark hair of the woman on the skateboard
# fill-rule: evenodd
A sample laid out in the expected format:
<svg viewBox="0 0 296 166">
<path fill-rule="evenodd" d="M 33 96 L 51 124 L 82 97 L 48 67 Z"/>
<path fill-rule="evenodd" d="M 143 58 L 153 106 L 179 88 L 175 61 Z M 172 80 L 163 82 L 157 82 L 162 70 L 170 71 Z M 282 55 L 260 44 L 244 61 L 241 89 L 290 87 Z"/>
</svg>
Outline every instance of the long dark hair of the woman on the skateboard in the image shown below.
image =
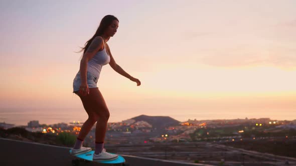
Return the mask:
<svg viewBox="0 0 296 166">
<path fill-rule="evenodd" d="M 101 22 L 100 22 L 100 25 L 99 25 L 97 31 L 95 32 L 95 34 L 94 34 L 94 35 L 93 35 L 88 41 L 86 41 L 86 43 L 84 44 L 84 47 L 80 47 L 81 50 L 78 51 L 77 53 L 83 51 L 83 54 L 84 54 L 85 51 L 87 50 L 88 46 L 90 45 L 91 41 L 92 41 L 96 36 L 101 36 L 101 35 L 105 32 L 106 28 L 107 28 L 108 26 L 110 26 L 110 24 L 112 23 L 112 21 L 113 21 L 114 19 L 116 19 L 116 20 L 119 22 L 119 20 L 118 20 L 114 15 L 105 15 L 105 16 L 102 18 L 102 20 L 101 20 Z"/>
</svg>

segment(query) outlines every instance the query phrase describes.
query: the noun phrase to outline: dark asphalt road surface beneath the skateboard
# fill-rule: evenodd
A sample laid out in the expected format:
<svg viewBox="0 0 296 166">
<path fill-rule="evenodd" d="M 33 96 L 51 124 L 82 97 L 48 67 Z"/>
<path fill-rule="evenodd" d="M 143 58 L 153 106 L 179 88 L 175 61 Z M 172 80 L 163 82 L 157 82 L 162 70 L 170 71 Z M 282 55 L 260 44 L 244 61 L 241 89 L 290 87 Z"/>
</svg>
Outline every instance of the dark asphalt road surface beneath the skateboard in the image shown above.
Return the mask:
<svg viewBox="0 0 296 166">
<path fill-rule="evenodd" d="M 0 138 L 0 165 L 72 165 L 72 155 L 69 154 L 69 147 L 26 142 L 12 139 Z M 187 165 L 206 165 L 195 163 L 183 163 L 177 161 L 151 159 L 123 155 L 130 166 L 134 165 L 162 165 L 162 166 L 187 166 Z M 81 163 L 80 165 L 107 165 L 94 162 Z M 210 166 L 210 165 L 207 165 Z"/>
</svg>

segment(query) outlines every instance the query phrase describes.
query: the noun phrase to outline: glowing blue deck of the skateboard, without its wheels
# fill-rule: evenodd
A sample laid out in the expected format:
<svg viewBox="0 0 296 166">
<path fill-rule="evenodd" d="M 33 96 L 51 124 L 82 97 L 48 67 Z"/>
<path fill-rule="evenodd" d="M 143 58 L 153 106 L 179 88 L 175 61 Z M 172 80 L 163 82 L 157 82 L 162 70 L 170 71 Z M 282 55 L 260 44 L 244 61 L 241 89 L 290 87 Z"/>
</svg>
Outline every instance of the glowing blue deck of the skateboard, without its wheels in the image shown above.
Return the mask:
<svg viewBox="0 0 296 166">
<path fill-rule="evenodd" d="M 70 153 L 71 153 L 71 149 L 70 149 Z M 77 158 L 80 158 L 80 159 L 84 159 L 84 160 L 87 160 L 87 161 L 93 161 L 92 160 L 92 157 L 93 157 L 93 153 L 94 153 L 94 150 L 91 150 L 89 152 L 86 152 L 86 153 L 82 153 L 82 154 L 78 154 L 78 155 L 74 155 L 75 157 Z M 111 154 L 114 154 L 114 153 L 111 153 Z M 118 154 L 117 154 L 118 155 Z M 74 161 L 73 161 L 74 162 Z M 73 163 L 72 162 L 72 163 Z M 78 161 L 76 161 L 78 162 Z M 124 164 L 125 162 L 125 159 L 121 156 L 121 155 L 118 155 L 118 158 L 117 159 L 113 159 L 113 160 L 96 160 L 94 162 L 99 162 L 99 163 L 106 163 L 106 164 L 117 164 L 117 163 L 123 163 L 123 165 L 127 165 L 127 164 Z M 77 165 L 77 164 L 75 164 Z"/>
</svg>

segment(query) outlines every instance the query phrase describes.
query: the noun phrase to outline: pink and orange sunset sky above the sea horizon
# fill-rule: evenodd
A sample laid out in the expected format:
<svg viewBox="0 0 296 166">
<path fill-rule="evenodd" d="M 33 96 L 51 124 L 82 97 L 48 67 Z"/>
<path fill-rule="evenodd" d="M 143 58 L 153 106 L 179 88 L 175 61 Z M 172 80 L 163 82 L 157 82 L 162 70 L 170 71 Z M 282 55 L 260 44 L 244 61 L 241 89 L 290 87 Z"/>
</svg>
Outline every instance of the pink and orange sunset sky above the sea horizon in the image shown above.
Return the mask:
<svg viewBox="0 0 296 166">
<path fill-rule="evenodd" d="M 116 63 L 141 81 L 103 66 L 111 120 L 296 119 L 295 0 L 1 0 L 0 108 L 83 109 L 76 52 L 107 14 Z"/>
</svg>

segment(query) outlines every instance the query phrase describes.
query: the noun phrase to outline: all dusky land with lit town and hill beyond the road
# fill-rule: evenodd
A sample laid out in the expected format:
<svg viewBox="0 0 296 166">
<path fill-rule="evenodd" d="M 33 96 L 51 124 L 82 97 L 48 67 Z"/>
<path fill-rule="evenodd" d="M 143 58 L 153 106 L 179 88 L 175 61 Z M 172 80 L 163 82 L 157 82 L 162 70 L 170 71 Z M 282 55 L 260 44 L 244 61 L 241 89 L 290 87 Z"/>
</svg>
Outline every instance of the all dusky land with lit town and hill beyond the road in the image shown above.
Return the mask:
<svg viewBox="0 0 296 166">
<path fill-rule="evenodd" d="M 0 129 L 22 127 L 43 135 L 77 135 L 82 125 L 75 120 L 49 125 L 32 120 L 23 126 L 2 122 Z M 296 164 L 296 119 L 246 117 L 181 122 L 169 116 L 139 115 L 110 122 L 107 128 L 105 146 L 120 154 L 214 165 Z M 84 144 L 94 147 L 94 142 L 95 125 Z"/>
</svg>

